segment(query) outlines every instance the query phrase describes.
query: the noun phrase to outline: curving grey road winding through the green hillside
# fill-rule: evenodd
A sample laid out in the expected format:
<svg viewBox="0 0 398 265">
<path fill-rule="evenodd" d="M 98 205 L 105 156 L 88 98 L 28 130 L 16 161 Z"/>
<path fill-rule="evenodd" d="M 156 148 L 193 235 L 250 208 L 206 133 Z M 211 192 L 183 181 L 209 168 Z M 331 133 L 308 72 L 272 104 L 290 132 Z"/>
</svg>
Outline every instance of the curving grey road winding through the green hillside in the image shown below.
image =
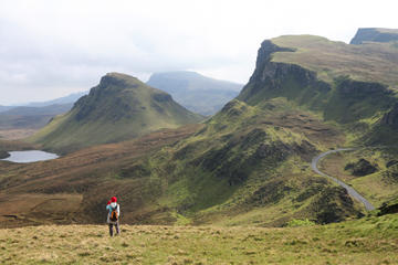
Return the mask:
<svg viewBox="0 0 398 265">
<path fill-rule="evenodd" d="M 313 158 L 312 160 L 312 163 L 311 163 L 311 167 L 312 169 L 323 176 L 323 177 L 327 177 L 329 178 L 331 180 L 333 180 L 334 182 L 336 182 L 337 184 L 339 184 L 341 187 L 343 187 L 344 189 L 347 190 L 348 194 L 352 195 L 354 199 L 356 199 L 357 201 L 362 202 L 365 206 L 365 209 L 367 211 L 371 211 L 371 210 L 375 210 L 375 206 L 371 205 L 371 203 L 366 200 L 364 197 L 362 197 L 356 190 L 354 190 L 352 187 L 349 187 L 348 184 L 344 183 L 343 181 L 332 177 L 332 176 L 328 176 L 324 172 L 322 172 L 318 168 L 317 168 L 317 163 L 320 162 L 320 160 L 331 153 L 334 153 L 334 152 L 339 152 L 339 151 L 349 151 L 349 150 L 355 150 L 355 148 L 338 148 L 338 149 L 335 149 L 335 150 L 329 150 L 329 151 L 326 151 L 326 152 L 323 152 L 316 157 Z"/>
</svg>

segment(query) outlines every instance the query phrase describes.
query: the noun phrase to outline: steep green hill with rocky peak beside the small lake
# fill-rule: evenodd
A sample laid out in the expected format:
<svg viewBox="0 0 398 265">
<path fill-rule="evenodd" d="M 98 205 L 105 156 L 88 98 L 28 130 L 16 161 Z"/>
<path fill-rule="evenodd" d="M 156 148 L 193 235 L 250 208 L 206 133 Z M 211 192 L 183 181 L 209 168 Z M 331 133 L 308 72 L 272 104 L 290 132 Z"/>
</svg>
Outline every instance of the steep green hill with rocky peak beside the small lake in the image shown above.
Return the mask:
<svg viewBox="0 0 398 265">
<path fill-rule="evenodd" d="M 125 74 L 109 73 L 65 115 L 55 117 L 31 138 L 61 152 L 138 137 L 161 128 L 197 123 L 165 92 Z"/>
</svg>

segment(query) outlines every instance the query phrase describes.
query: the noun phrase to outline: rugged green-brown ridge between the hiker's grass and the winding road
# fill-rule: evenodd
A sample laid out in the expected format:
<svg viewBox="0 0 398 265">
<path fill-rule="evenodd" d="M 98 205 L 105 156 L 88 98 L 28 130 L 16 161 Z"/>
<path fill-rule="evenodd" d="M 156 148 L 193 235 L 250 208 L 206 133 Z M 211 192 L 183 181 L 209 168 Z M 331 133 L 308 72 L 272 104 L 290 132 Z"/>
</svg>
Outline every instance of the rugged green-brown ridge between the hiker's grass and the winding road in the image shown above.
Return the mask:
<svg viewBox="0 0 398 265">
<path fill-rule="evenodd" d="M 189 136 L 151 144 L 165 136 L 96 146 L 36 165 L 9 165 L 0 180 L 21 202 L 25 194 L 54 190 L 83 194 L 82 211 L 91 222 L 101 222 L 109 190 L 121 198 L 128 223 L 282 226 L 292 219 L 329 223 L 362 214 L 344 189 L 308 166 L 318 150 L 343 142 L 342 134 L 284 98 L 262 106 L 232 100 Z M 46 200 L 30 200 L 30 208 Z M 44 220 L 22 208 L 14 214 L 22 223 L 59 222 L 60 209 L 42 211 Z M 64 210 L 62 222 L 70 211 Z"/>
</svg>

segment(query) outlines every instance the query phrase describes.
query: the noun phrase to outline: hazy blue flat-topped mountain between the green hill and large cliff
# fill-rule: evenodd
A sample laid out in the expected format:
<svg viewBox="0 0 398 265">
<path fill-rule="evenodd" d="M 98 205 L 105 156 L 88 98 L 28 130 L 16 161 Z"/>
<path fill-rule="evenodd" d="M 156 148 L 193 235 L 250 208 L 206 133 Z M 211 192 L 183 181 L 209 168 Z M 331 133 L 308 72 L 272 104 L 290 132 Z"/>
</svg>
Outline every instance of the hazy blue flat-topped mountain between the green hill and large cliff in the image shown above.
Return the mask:
<svg viewBox="0 0 398 265">
<path fill-rule="evenodd" d="M 169 93 L 189 110 L 212 115 L 238 96 L 243 85 L 213 80 L 195 72 L 155 73 L 148 85 Z"/>
</svg>

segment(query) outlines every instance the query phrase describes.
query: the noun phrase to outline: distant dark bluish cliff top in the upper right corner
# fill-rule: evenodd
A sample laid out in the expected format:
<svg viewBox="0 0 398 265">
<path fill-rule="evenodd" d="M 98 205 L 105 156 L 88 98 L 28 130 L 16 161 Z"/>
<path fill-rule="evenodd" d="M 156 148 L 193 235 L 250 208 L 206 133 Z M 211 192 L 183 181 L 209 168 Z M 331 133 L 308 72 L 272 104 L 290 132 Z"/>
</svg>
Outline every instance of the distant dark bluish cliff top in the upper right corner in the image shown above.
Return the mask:
<svg viewBox="0 0 398 265">
<path fill-rule="evenodd" d="M 363 44 L 364 42 L 394 42 L 398 41 L 398 30 L 364 28 L 358 29 L 349 44 Z"/>
</svg>

